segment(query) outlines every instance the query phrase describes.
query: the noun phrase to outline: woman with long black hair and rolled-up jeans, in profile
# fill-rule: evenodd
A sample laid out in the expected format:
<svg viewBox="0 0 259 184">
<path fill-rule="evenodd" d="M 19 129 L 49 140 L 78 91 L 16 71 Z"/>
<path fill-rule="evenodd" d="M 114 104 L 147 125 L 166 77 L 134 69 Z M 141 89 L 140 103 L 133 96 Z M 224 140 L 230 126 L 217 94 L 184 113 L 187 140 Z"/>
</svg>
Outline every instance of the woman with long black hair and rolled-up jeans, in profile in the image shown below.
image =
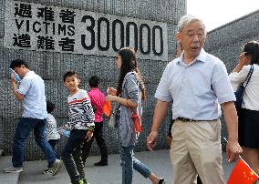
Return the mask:
<svg viewBox="0 0 259 184">
<path fill-rule="evenodd" d="M 133 48 L 123 47 L 117 55 L 117 68 L 120 69 L 117 89 L 108 87 L 107 101 L 119 104 L 117 115 L 119 126 L 120 158 L 122 167 L 122 184 L 132 183 L 132 170 L 137 170 L 153 184 L 165 183 L 154 175 L 139 159 L 135 158 L 133 149 L 139 133 L 131 118 L 132 112 L 142 115 L 142 100 L 146 99 L 146 89 L 140 74 L 138 60 Z"/>
</svg>

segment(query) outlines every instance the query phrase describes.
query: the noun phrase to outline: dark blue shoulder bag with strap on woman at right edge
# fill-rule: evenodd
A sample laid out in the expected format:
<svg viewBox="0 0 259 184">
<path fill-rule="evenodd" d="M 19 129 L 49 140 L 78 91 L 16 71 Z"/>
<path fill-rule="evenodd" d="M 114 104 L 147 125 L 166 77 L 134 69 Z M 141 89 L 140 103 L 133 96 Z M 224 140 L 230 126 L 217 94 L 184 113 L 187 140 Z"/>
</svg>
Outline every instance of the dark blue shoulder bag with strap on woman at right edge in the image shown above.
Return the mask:
<svg viewBox="0 0 259 184">
<path fill-rule="evenodd" d="M 247 77 L 245 78 L 244 82 L 247 80 L 246 85 L 243 86 L 243 83 L 236 89 L 234 92 L 236 101 L 234 102 L 234 105 L 236 108 L 241 108 L 242 101 L 243 101 L 243 92 L 245 87 L 247 86 L 248 82 L 250 81 L 250 78 L 252 77 L 252 74 L 254 72 L 254 65 L 250 67 L 249 73 L 247 74 Z"/>
</svg>

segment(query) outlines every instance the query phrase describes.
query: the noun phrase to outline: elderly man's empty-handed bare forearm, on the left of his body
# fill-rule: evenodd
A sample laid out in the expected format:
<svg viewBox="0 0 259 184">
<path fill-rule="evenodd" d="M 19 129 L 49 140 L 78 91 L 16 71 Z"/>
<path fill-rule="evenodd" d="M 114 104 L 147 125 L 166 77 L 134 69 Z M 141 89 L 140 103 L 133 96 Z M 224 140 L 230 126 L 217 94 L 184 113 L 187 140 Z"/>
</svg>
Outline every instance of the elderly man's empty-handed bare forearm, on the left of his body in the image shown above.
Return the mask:
<svg viewBox="0 0 259 184">
<path fill-rule="evenodd" d="M 156 145 L 158 130 L 161 126 L 163 119 L 167 116 L 168 107 L 169 102 L 161 101 L 160 99 L 157 101 L 156 107 L 154 109 L 152 128 L 150 131 L 150 135 L 147 138 L 147 147 L 150 150 L 153 150 Z"/>
</svg>

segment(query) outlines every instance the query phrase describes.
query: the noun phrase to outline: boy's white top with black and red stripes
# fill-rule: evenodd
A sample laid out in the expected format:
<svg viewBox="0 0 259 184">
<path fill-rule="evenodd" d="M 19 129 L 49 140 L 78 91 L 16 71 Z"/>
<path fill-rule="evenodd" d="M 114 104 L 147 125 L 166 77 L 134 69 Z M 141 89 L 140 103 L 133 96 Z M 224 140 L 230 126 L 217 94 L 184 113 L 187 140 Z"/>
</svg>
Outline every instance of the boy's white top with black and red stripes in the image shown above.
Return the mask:
<svg viewBox="0 0 259 184">
<path fill-rule="evenodd" d="M 79 89 L 72 96 L 67 97 L 69 121 L 65 125 L 67 129 L 89 129 L 94 127 L 94 111 L 88 97 L 88 92 Z"/>
</svg>

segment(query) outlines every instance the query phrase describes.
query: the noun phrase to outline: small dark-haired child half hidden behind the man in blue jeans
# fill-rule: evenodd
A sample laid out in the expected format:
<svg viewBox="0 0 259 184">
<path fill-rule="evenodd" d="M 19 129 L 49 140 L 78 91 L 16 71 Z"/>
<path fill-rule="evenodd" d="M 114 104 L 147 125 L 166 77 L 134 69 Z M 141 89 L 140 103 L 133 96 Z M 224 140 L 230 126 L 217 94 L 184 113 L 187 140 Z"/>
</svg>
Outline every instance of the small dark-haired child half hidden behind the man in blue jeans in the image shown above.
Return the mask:
<svg viewBox="0 0 259 184">
<path fill-rule="evenodd" d="M 57 157 L 56 145 L 60 138 L 60 135 L 58 134 L 58 131 L 57 131 L 57 121 L 51 114 L 54 109 L 55 109 L 55 104 L 50 101 L 47 101 L 47 124 L 46 124 L 46 131 L 45 131 L 46 139 Z M 43 171 L 43 174 L 53 174 L 53 169 L 52 168 L 45 169 Z"/>
</svg>

